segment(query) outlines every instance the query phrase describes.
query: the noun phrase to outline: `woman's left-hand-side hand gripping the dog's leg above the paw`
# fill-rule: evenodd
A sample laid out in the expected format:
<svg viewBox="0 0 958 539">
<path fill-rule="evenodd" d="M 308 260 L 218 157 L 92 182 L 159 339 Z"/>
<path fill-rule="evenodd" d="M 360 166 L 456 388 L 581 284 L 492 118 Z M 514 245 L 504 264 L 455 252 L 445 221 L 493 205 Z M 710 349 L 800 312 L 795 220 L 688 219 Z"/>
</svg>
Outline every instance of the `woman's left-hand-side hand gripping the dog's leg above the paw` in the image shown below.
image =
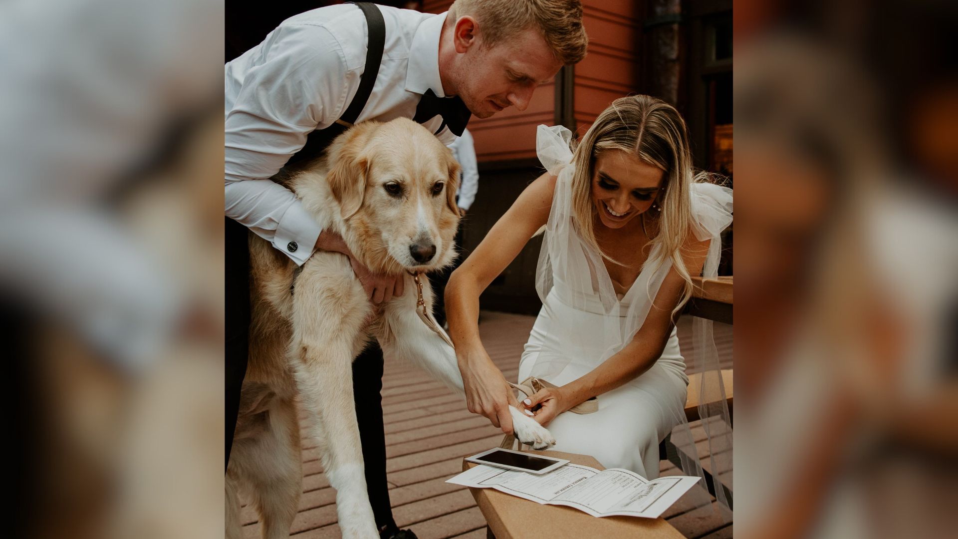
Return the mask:
<svg viewBox="0 0 958 539">
<path fill-rule="evenodd" d="M 519 410 L 519 404 L 512 388 L 506 384 L 506 378 L 485 350 L 469 356 L 468 360 L 459 361 L 468 410 L 486 416 L 503 433 L 513 434 L 513 416 L 509 406 Z"/>
</svg>

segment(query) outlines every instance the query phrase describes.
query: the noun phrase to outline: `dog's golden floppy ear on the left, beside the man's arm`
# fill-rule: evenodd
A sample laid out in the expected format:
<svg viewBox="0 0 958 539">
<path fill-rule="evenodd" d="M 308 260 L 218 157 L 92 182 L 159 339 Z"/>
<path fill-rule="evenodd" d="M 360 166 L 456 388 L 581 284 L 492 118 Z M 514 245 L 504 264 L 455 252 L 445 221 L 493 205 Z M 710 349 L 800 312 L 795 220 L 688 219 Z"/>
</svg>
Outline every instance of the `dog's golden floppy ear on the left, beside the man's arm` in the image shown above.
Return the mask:
<svg viewBox="0 0 958 539">
<path fill-rule="evenodd" d="M 369 176 L 369 157 L 363 149 L 374 126 L 362 124 L 348 130 L 330 148 L 330 183 L 332 196 L 339 202 L 343 219 L 353 217 L 362 206 Z"/>
</svg>

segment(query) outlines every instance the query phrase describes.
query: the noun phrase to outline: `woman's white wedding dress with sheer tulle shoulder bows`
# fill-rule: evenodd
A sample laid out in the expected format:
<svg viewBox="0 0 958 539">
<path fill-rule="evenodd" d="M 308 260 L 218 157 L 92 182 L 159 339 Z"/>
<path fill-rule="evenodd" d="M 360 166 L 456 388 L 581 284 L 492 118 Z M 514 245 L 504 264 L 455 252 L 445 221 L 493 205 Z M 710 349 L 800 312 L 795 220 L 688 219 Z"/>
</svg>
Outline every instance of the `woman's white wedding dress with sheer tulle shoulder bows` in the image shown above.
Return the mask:
<svg viewBox="0 0 958 539">
<path fill-rule="evenodd" d="M 557 386 L 589 372 L 632 339 L 649 312 L 650 298 L 672 268 L 669 261 L 652 262 L 659 252 L 654 246 L 635 283 L 625 294 L 615 292 L 600 253 L 582 242 L 571 222 L 570 136 L 562 127 L 539 126 L 537 133 L 539 159 L 558 179 L 536 271 L 542 310 L 525 345 L 518 376 L 521 381 L 535 375 Z M 708 276 L 718 265 L 719 232 L 731 222 L 731 190 L 699 183 L 689 196 L 696 235 L 715 240 L 706 261 Z M 708 329 L 711 340 L 711 325 Z M 696 336 L 696 342 L 702 337 Z M 649 370 L 599 395 L 598 411 L 565 412 L 550 423 L 558 441 L 553 449 L 591 455 L 606 468 L 658 477 L 658 444 L 685 422 L 685 370 L 673 329 Z"/>
</svg>

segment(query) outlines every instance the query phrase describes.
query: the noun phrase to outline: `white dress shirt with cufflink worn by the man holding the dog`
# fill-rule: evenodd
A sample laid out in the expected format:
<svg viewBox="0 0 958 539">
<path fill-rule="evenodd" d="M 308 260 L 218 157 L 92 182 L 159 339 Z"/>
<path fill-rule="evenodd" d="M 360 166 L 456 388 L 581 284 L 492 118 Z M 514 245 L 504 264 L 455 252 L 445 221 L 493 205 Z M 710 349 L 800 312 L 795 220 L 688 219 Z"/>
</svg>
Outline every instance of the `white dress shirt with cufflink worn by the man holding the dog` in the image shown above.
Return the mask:
<svg viewBox="0 0 958 539">
<path fill-rule="evenodd" d="M 373 93 L 357 118 L 389 121 L 416 114 L 422 94 L 445 97 L 439 37 L 445 13 L 377 6 L 385 50 Z M 350 105 L 365 69 L 366 17 L 353 4 L 286 19 L 226 64 L 226 216 L 243 223 L 301 265 L 322 231 L 296 196 L 275 183 L 286 160 L 314 129 L 330 127 Z M 435 132 L 441 116 L 423 124 Z M 444 144 L 455 135 L 446 127 Z"/>
</svg>

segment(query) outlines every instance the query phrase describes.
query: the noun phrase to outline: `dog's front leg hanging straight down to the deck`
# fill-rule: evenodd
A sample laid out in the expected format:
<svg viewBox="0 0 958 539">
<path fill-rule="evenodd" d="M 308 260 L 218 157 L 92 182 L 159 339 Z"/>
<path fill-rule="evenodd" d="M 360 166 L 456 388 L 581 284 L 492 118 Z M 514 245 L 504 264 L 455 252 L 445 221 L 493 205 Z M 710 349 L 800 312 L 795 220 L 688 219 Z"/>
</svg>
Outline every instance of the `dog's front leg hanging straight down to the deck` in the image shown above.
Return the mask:
<svg viewBox="0 0 958 539">
<path fill-rule="evenodd" d="M 352 271 L 348 263 L 345 269 Z M 352 370 L 369 307 L 352 274 L 330 273 L 329 268 L 316 269 L 308 263 L 297 279 L 291 363 L 303 405 L 325 437 L 318 443 L 323 469 L 336 490 L 343 537 L 376 538 L 356 424 Z"/>
</svg>

